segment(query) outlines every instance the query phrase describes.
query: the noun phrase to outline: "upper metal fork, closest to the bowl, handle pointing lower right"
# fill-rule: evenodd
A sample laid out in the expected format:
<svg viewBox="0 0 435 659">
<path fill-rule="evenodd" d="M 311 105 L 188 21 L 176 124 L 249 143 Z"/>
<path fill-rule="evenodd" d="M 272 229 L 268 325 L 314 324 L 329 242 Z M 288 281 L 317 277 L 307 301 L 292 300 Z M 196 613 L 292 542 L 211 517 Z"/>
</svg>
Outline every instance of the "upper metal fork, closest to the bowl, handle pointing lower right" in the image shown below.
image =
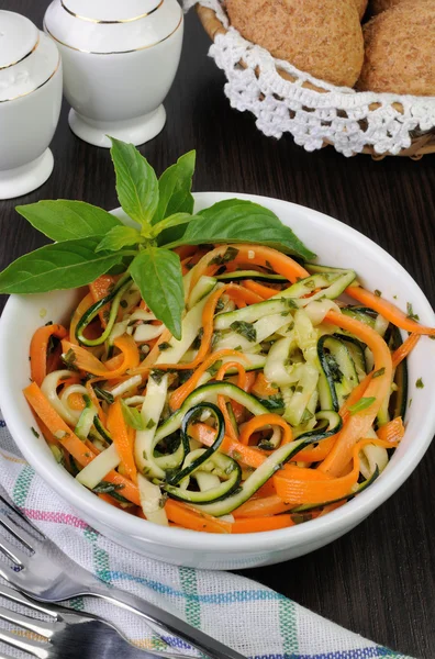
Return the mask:
<svg viewBox="0 0 435 659">
<path fill-rule="evenodd" d="M 210 659 L 245 659 L 159 606 L 99 581 L 63 554 L 14 504 L 0 495 L 1 504 L 7 512 L 0 511 L 0 528 L 3 527 L 19 540 L 23 549 L 16 548 L 0 535 L 0 551 L 13 563 L 9 569 L 0 563 L 0 576 L 20 591 L 46 603 L 63 602 L 81 595 L 100 597 L 143 616 L 154 630 L 161 633 L 163 629 L 181 638 Z M 15 513 L 20 524 L 11 513 Z"/>
</svg>

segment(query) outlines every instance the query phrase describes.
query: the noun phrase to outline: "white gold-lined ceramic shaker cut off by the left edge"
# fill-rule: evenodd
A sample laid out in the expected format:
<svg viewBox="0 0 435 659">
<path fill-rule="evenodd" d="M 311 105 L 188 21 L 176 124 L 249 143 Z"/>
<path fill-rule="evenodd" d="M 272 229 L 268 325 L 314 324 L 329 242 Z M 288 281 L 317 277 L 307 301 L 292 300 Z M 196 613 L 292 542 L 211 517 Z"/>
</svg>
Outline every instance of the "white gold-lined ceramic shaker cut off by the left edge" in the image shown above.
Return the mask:
<svg viewBox="0 0 435 659">
<path fill-rule="evenodd" d="M 62 62 L 56 45 L 25 16 L 0 11 L 0 199 L 42 186 L 59 120 Z"/>
</svg>

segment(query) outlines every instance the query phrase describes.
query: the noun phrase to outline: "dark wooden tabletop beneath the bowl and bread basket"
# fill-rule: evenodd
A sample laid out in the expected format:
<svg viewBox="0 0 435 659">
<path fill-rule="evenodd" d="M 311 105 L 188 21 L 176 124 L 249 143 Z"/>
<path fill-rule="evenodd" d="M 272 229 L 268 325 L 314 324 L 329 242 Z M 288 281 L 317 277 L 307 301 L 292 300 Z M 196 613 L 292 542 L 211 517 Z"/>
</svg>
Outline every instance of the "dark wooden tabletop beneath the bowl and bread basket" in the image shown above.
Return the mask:
<svg viewBox="0 0 435 659">
<path fill-rule="evenodd" d="M 47 4 L 1 0 L 0 9 L 41 26 Z M 196 190 L 266 194 L 333 215 L 390 252 L 434 305 L 435 158 L 346 159 L 332 148 L 306 154 L 290 137 L 264 137 L 252 115 L 230 108 L 224 77 L 207 56 L 209 40 L 193 13 L 186 29 L 181 66 L 166 101 L 167 126 L 141 149 L 157 171 L 196 148 Z M 66 107 L 53 152 L 52 178 L 20 203 L 66 198 L 118 205 L 109 152 L 71 134 Z M 15 203 L 0 202 L 1 268 L 44 243 L 14 212 Z M 354 532 L 310 556 L 246 576 L 379 644 L 433 659 L 434 473 L 435 446 L 400 492 Z"/>
</svg>

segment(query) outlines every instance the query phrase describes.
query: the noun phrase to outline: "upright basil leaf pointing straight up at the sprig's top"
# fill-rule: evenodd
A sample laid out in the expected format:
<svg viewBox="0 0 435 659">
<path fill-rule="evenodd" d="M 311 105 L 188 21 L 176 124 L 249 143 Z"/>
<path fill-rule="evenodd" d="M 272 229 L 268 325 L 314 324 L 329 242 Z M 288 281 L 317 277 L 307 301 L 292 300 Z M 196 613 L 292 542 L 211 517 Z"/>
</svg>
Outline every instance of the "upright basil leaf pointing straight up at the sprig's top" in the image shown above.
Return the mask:
<svg viewBox="0 0 435 659">
<path fill-rule="evenodd" d="M 125 213 L 142 226 L 148 226 L 158 205 L 156 172 L 133 146 L 111 137 L 111 155 L 116 174 L 118 199 Z"/>
</svg>

